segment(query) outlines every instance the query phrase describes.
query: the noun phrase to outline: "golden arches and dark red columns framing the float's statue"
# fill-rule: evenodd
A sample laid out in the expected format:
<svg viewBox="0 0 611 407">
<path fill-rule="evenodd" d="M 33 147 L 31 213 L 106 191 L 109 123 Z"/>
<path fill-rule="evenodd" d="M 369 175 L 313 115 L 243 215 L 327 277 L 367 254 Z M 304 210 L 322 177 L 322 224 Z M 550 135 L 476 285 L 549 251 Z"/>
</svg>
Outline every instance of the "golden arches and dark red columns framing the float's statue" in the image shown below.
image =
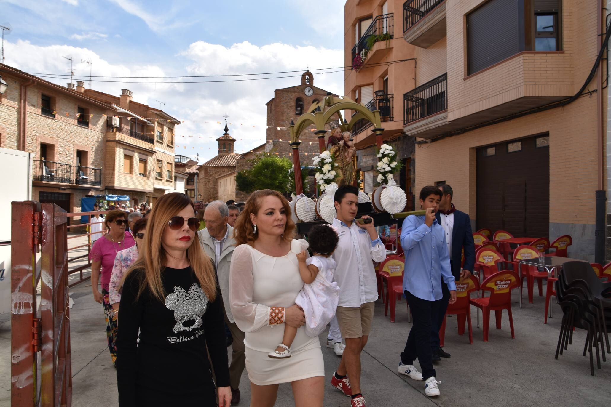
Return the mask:
<svg viewBox="0 0 611 407">
<path fill-rule="evenodd" d="M 353 110 L 356 112 L 351 118 L 350 121 L 346 121 L 342 118 L 341 110 Z M 327 130 L 324 128 L 324 125 L 331 121 L 331 118 L 337 115 L 339 118 L 339 127 L 344 131 L 351 131 L 354 127 L 354 124 L 359 120 L 367 120 L 373 124 L 372 131 L 376 134 L 376 145 L 382 145 L 382 131 L 381 128 L 381 120 L 380 120 L 380 112 L 379 110 L 373 110 L 373 112 L 364 104 L 356 103 L 352 99 L 346 98 L 346 96 L 339 97 L 333 96 L 331 92 L 327 93 L 327 96 L 323 98 L 322 101 L 318 103 L 312 104 L 308 109 L 307 113 L 299 116 L 297 123 L 294 123 L 291 120 L 290 125 L 290 134 L 291 134 L 291 143 L 290 146 L 293 148 L 293 167 L 301 168 L 301 163 L 299 162 L 299 135 L 310 125 L 316 126 L 316 131 L 314 132 L 318 135 L 318 146 L 320 148 L 320 152 L 322 153 L 325 149 L 324 145 L 324 135 Z M 302 179 L 301 179 L 301 171 L 293 171 L 295 173 L 295 187 L 296 193 L 299 195 L 303 193 L 302 190 Z"/>
</svg>

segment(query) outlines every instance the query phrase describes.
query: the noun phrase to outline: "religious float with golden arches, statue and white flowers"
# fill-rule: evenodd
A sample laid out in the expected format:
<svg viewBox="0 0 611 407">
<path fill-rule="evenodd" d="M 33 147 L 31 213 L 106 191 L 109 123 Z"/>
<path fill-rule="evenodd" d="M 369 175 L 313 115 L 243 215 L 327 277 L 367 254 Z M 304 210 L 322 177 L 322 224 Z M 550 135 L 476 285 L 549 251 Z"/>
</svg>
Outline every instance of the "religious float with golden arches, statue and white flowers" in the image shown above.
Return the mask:
<svg viewBox="0 0 611 407">
<path fill-rule="evenodd" d="M 350 121 L 342 117 L 342 110 L 351 110 L 354 114 Z M 339 126 L 331 130 L 328 142 L 325 143 L 327 129 L 325 124 L 337 117 Z M 331 223 L 335 217 L 334 194 L 343 184 L 356 185 L 356 148 L 352 143 L 351 130 L 360 120 L 373 124 L 378 147 L 378 166 L 376 170 L 380 184 L 370 198 L 366 193 L 359 192 L 357 217 L 368 215 L 373 218 L 376 226 L 394 225 L 399 227 L 403 218 L 410 214 L 420 214 L 423 211 L 404 212 L 407 199 L 405 192 L 396 184 L 393 173 L 401 168 L 396 160 L 396 151 L 392 146 L 382 143 L 381 120 L 379 110 L 369 110 L 365 105 L 344 97 L 333 96 L 331 92 L 322 101 L 313 103 L 306 113 L 295 123 L 291 120 L 290 146 L 293 149 L 293 166 L 301 168 L 299 162 L 299 135 L 312 124 L 316 127 L 320 154 L 315 156 L 312 164 L 316 167 L 316 185 L 321 191 L 316 203 L 303 194 L 301 171 L 294 171 L 296 192 L 291 201 L 293 220 L 297 223 L 299 234 L 308 234 L 312 226 L 320 223 Z M 326 146 L 331 146 L 328 150 Z M 398 228 L 397 228 L 398 229 Z"/>
</svg>

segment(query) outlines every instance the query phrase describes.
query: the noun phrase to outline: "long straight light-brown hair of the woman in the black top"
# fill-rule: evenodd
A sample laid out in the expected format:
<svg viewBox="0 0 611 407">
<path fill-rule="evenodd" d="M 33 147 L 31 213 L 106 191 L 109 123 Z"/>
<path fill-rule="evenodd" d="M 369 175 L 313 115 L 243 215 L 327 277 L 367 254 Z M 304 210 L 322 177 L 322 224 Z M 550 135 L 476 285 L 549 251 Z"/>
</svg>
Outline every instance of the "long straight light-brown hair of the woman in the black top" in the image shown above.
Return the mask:
<svg viewBox="0 0 611 407">
<path fill-rule="evenodd" d="M 169 227 L 167 222 L 169 222 L 170 218 L 176 216 L 185 206 L 191 206 L 195 213 L 191 198 L 180 192 L 167 193 L 159 198 L 152 212 L 147 217 L 147 232 L 144 234 L 142 251 L 137 261 L 127 270 L 120 284 L 123 286 L 127 276 L 133 273 L 134 270 L 143 270 L 143 278 L 137 295 L 138 298 L 148 288 L 152 297 L 157 298 L 161 302 L 165 301 L 167 294 L 163 287 L 161 273 L 163 273 L 167 262 L 167 254 L 162 244 L 163 234 L 166 228 Z M 203 292 L 206 293 L 210 301 L 214 301 L 214 298 L 216 298 L 214 268 L 212 261 L 203 251 L 197 232 L 193 243 L 187 249 L 187 259 Z"/>
</svg>

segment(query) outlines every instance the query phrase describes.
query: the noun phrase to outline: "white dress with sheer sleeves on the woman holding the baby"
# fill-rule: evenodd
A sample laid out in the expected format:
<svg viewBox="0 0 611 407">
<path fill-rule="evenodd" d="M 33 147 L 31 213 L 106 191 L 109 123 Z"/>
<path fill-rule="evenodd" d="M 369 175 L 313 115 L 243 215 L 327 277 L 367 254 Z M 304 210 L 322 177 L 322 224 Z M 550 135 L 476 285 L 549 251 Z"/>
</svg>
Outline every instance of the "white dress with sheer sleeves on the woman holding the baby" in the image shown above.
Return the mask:
<svg viewBox="0 0 611 407">
<path fill-rule="evenodd" d="M 229 272 L 229 300 L 233 318 L 246 335 L 246 370 L 258 386 L 287 383 L 324 376 L 320 341 L 297 330 L 291 345 L 291 357 L 269 358 L 269 350 L 282 343 L 284 323 L 269 325 L 269 308 L 295 305 L 304 286 L 299 274 L 297 254 L 305 250 L 305 240 L 292 240 L 285 256 L 263 254 L 249 245 L 235 248 Z"/>
</svg>

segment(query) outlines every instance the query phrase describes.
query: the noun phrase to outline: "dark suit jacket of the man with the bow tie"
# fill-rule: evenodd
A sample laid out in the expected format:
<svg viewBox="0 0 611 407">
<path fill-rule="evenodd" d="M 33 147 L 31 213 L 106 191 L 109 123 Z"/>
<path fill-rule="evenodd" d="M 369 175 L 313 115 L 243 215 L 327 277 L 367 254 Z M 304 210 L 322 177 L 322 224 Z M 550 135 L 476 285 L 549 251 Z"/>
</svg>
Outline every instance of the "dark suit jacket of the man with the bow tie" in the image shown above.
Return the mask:
<svg viewBox="0 0 611 407">
<path fill-rule="evenodd" d="M 436 214 L 437 222 L 441 225 L 441 212 Z M 460 278 L 460 264 L 464 248 L 464 269 L 473 272 L 475 266 L 475 243 L 471 231 L 471 219 L 464 212 L 454 212 L 454 226 L 452 228 L 452 275 L 458 281 Z"/>
</svg>

